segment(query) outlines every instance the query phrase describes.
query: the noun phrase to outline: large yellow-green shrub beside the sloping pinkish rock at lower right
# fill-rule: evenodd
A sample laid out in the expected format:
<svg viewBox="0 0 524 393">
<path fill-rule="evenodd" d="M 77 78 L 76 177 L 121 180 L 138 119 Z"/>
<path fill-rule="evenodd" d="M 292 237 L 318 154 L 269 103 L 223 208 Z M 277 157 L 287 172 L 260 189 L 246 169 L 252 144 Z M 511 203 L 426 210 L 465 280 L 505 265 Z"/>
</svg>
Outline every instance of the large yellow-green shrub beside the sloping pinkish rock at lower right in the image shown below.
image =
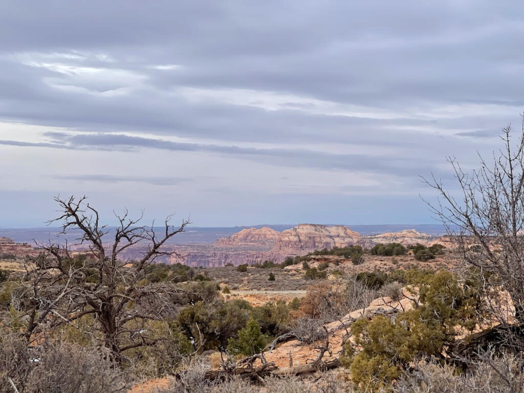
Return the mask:
<svg viewBox="0 0 524 393">
<path fill-rule="evenodd" d="M 475 329 L 476 308 L 481 297 L 476 282 L 464 282 L 448 271 L 410 271 L 411 285 L 419 288 L 420 303 L 414 310 L 399 313 L 396 319 L 378 315 L 359 319 L 351 326 L 356 347 L 345 345 L 343 364 L 351 369 L 353 382 L 367 389 L 389 388 L 409 364 L 424 356 L 445 361 L 459 331 Z"/>
</svg>

